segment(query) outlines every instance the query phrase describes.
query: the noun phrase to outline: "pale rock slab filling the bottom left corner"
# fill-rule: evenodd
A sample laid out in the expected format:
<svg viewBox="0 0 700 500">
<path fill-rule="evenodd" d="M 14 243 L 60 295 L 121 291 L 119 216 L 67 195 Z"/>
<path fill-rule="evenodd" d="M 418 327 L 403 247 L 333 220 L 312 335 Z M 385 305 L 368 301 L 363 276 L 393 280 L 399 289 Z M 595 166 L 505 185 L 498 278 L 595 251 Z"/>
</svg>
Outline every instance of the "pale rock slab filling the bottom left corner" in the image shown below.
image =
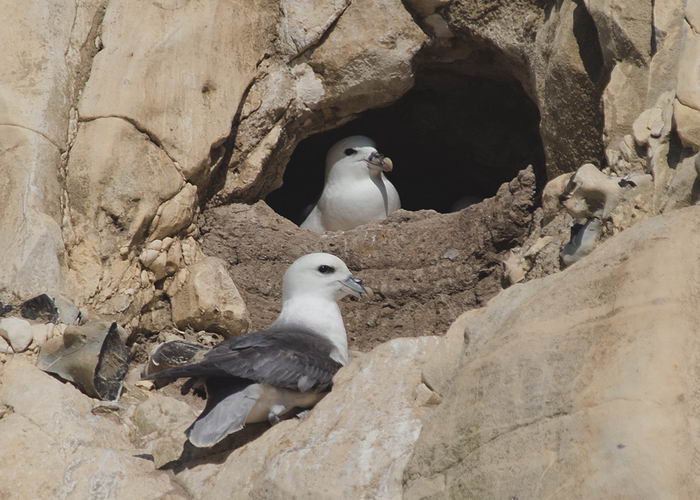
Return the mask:
<svg viewBox="0 0 700 500">
<path fill-rule="evenodd" d="M 2 367 L 0 497 L 187 498 L 168 475 L 140 458 L 114 416 L 25 360 Z"/>
</svg>

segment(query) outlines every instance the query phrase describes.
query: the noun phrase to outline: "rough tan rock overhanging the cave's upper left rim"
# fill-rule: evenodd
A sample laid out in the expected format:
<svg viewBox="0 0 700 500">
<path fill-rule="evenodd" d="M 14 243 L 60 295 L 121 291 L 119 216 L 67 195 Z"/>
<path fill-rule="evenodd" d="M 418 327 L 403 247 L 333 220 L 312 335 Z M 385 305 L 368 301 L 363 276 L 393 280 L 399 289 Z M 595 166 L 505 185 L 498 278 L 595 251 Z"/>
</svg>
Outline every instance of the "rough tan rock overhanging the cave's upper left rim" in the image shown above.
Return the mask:
<svg viewBox="0 0 700 500">
<path fill-rule="evenodd" d="M 281 23 L 283 51 L 310 45 L 289 64 L 270 61 L 251 87 L 218 199 L 262 198 L 281 185 L 301 139 L 389 104 L 413 84 L 413 58 L 427 36 L 400 0 L 326 2 L 297 19 L 303 6 L 283 5 L 292 16 Z"/>
</svg>

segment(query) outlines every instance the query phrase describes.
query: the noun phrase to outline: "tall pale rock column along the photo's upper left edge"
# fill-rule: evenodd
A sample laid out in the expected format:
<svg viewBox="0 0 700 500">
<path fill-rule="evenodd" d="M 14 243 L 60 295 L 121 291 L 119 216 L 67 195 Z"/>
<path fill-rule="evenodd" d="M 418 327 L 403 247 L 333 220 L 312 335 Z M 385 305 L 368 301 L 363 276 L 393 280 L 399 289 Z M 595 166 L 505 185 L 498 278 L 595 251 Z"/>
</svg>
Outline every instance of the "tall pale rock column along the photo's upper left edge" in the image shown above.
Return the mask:
<svg viewBox="0 0 700 500">
<path fill-rule="evenodd" d="M 0 294 L 63 286 L 61 154 L 103 4 L 0 2 Z"/>
</svg>

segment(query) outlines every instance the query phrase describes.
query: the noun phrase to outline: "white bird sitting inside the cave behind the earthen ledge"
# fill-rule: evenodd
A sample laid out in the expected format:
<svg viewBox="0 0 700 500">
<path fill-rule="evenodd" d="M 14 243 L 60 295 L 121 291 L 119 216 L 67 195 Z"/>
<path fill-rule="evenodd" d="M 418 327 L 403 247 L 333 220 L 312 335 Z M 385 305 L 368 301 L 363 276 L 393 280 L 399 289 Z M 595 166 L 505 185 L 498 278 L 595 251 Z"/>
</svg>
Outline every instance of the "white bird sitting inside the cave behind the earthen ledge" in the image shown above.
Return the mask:
<svg viewBox="0 0 700 500">
<path fill-rule="evenodd" d="M 321 197 L 301 224 L 317 233 L 347 231 L 385 219 L 401 208 L 399 193 L 384 176 L 393 164 L 364 136 L 337 142 L 326 156 L 326 183 Z"/>
</svg>

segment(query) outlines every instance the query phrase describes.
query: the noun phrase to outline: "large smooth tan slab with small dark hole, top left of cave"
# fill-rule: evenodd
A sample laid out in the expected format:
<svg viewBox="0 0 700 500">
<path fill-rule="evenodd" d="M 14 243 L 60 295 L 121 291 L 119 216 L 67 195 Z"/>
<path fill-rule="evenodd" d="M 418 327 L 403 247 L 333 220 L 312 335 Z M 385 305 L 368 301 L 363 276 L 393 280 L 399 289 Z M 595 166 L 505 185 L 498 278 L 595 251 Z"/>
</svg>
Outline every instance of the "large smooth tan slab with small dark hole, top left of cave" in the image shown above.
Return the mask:
<svg viewBox="0 0 700 500">
<path fill-rule="evenodd" d="M 80 116 L 128 119 L 188 180 L 205 176 L 269 50 L 277 13 L 266 1 L 110 2 Z"/>
</svg>

